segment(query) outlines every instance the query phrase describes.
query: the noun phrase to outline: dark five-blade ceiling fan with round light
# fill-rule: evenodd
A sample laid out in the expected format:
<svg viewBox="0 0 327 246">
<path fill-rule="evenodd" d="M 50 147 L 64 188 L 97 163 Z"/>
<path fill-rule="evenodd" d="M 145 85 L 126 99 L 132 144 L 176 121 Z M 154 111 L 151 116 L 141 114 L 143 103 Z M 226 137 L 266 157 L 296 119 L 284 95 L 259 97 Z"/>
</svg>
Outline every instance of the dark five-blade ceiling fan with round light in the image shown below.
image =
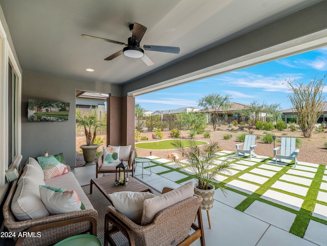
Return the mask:
<svg viewBox="0 0 327 246">
<path fill-rule="evenodd" d="M 141 42 L 145 32 L 147 31 L 147 28 L 142 26 L 141 24 L 134 23 L 129 25 L 129 30 L 133 33 L 131 37 L 128 38 L 128 42 L 123 43 L 119 41 L 114 41 L 106 38 L 101 38 L 101 37 L 95 37 L 95 36 L 90 36 L 86 34 L 82 34 L 83 37 L 87 38 L 93 38 L 93 39 L 98 39 L 101 41 L 106 41 L 106 42 L 111 42 L 111 43 L 117 43 L 121 44 L 123 46 L 126 46 L 123 50 L 118 51 L 107 58 L 105 60 L 112 60 L 122 54 L 124 54 L 127 57 L 130 58 L 141 58 L 144 63 L 146 63 L 148 66 L 151 66 L 154 64 L 154 62 L 144 53 L 144 50 L 146 51 L 159 51 L 159 52 L 166 52 L 166 53 L 174 53 L 178 54 L 179 53 L 179 47 L 169 47 L 169 46 L 150 46 L 150 45 L 144 45 L 144 46 L 139 46 L 139 43 Z"/>
</svg>

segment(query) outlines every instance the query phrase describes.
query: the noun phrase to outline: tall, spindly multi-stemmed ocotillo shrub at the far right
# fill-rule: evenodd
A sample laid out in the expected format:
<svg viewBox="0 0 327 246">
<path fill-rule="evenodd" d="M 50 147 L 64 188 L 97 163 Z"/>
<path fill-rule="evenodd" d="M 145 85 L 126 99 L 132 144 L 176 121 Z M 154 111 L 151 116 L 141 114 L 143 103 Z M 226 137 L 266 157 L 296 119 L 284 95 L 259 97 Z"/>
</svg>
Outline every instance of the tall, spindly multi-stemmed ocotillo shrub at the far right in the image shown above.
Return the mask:
<svg viewBox="0 0 327 246">
<path fill-rule="evenodd" d="M 298 125 L 305 138 L 311 138 L 315 123 L 319 119 L 323 110 L 323 101 L 326 96 L 322 96 L 322 89 L 325 84 L 322 79 L 313 78 L 308 85 L 297 81 L 286 80 L 288 87 L 293 92 L 289 95 L 293 105 L 293 113 L 297 115 Z"/>
</svg>

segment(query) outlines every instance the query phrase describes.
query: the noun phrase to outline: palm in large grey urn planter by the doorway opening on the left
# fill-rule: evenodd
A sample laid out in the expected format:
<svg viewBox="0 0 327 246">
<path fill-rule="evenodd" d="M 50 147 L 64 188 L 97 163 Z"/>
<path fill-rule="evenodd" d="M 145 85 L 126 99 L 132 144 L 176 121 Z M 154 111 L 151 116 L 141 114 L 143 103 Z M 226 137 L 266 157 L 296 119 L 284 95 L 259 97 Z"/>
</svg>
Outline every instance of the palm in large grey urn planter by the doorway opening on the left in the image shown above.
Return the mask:
<svg viewBox="0 0 327 246">
<path fill-rule="evenodd" d="M 94 144 L 97 137 L 97 130 L 102 126 L 101 121 L 98 119 L 96 109 L 91 109 L 88 113 L 82 114 L 82 111 L 76 110 L 76 124 L 78 127 L 83 127 L 86 137 L 86 145 L 81 145 L 85 165 L 95 165 L 97 149 L 99 145 Z"/>
</svg>

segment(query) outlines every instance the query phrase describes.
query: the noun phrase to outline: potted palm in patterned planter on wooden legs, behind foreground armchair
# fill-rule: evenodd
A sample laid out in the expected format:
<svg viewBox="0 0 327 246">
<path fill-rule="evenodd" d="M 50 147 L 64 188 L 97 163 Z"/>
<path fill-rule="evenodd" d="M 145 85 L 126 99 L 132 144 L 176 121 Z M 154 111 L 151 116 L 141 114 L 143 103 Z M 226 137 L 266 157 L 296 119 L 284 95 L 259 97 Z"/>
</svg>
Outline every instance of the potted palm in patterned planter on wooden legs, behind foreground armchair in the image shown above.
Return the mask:
<svg viewBox="0 0 327 246">
<path fill-rule="evenodd" d="M 186 144 L 184 145 L 184 143 Z M 179 149 L 184 156 L 183 161 L 175 159 L 177 166 L 190 170 L 198 180 L 198 185 L 194 187 L 194 193 L 202 196 L 203 202 L 200 207 L 203 210 L 207 210 L 209 219 L 208 210 L 213 208 L 214 205 L 215 186 L 213 183 L 216 183 L 224 193 L 222 186 L 219 185 L 219 181 L 215 180 L 215 177 L 222 172 L 230 173 L 230 162 L 233 159 L 225 158 L 223 161 L 218 160 L 220 158 L 217 155 L 219 151 L 218 142 L 197 146 L 195 140 L 184 142 L 180 139 L 175 139 L 172 145 Z"/>
</svg>

